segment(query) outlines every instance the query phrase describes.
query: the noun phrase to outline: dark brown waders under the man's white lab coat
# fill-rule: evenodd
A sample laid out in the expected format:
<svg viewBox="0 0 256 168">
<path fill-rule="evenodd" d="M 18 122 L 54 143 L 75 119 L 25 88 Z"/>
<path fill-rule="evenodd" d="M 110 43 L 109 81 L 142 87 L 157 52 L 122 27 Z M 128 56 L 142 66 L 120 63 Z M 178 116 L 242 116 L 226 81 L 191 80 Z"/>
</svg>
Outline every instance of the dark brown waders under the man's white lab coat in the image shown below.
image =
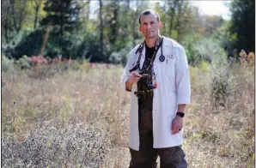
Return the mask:
<svg viewBox="0 0 256 168">
<path fill-rule="evenodd" d="M 156 168 L 156 159 L 160 157 L 161 168 L 186 168 L 185 153 L 178 147 L 153 148 L 153 101 L 140 102 L 138 110 L 139 151 L 130 148 L 129 168 Z"/>
</svg>

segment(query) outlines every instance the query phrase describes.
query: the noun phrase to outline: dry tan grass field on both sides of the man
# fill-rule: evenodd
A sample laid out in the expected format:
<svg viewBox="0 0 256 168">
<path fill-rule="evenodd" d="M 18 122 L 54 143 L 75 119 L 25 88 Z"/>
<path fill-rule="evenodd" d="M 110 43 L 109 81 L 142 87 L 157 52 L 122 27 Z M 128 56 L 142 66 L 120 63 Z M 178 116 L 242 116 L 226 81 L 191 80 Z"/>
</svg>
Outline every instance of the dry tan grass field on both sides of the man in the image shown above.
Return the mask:
<svg viewBox="0 0 256 168">
<path fill-rule="evenodd" d="M 128 167 L 130 93 L 123 67 L 2 73 L 2 167 Z M 189 167 L 254 167 L 254 67 L 229 68 L 225 106 L 212 71 L 190 67 L 184 143 Z"/>
</svg>

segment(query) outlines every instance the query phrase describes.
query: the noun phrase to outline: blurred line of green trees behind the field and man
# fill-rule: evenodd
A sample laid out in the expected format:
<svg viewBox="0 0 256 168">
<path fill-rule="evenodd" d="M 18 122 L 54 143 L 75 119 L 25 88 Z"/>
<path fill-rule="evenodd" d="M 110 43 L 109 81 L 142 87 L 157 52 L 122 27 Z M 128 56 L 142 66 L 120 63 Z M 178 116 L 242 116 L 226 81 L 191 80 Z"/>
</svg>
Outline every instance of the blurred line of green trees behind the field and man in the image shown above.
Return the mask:
<svg viewBox="0 0 256 168">
<path fill-rule="evenodd" d="M 153 6 L 152 6 L 153 5 Z M 155 9 L 163 23 L 162 35 L 186 49 L 189 63 L 210 50 L 223 48 L 229 57 L 255 51 L 255 2 L 229 4 L 231 20 L 200 15 L 186 0 L 90 1 L 5 0 L 2 3 L 2 52 L 15 59 L 42 55 L 89 59 L 97 63 L 125 63 L 127 53 L 142 42 L 138 15 Z"/>
</svg>

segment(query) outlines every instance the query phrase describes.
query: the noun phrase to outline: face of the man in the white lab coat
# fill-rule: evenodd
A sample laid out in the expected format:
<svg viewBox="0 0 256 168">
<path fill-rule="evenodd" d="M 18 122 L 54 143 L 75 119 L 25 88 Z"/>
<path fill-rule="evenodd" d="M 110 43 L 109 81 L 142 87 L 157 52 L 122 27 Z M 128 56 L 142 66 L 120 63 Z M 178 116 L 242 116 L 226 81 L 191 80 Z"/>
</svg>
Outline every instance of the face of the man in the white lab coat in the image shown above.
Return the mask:
<svg viewBox="0 0 256 168">
<path fill-rule="evenodd" d="M 154 38 L 162 28 L 162 22 L 158 22 L 154 14 L 142 15 L 140 18 L 139 31 L 145 38 Z"/>
</svg>

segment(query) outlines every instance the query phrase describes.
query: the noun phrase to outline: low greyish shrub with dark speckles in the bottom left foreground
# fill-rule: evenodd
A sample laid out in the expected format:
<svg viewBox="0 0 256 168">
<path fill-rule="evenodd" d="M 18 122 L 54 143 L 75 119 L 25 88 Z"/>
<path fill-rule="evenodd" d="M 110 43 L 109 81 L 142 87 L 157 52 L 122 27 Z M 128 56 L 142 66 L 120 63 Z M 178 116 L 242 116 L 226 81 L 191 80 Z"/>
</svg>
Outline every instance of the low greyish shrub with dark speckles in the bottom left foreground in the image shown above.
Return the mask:
<svg viewBox="0 0 256 168">
<path fill-rule="evenodd" d="M 109 151 L 100 130 L 51 125 L 35 129 L 22 143 L 2 138 L 3 167 L 100 167 Z"/>
</svg>

